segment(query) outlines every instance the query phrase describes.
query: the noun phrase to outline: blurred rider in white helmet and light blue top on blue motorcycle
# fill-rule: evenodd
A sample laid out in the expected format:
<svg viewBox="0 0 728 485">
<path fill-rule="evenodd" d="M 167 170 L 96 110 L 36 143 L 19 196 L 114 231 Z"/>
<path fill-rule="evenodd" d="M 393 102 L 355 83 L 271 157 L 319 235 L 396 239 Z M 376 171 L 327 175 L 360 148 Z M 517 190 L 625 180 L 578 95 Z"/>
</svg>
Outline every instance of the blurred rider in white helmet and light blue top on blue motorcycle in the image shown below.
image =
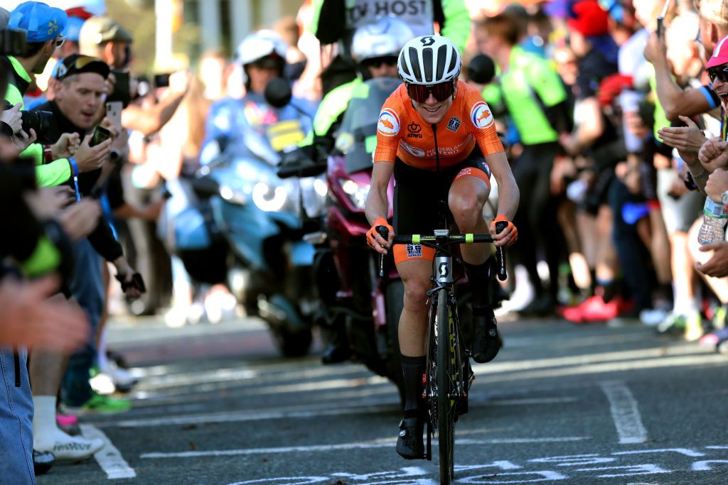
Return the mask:
<svg viewBox="0 0 728 485">
<path fill-rule="evenodd" d="M 293 133 L 288 132 L 287 145 L 304 138 L 310 124 L 306 117 L 301 116 L 292 105 L 274 108 L 264 97 L 268 82 L 283 75 L 287 49 L 278 33 L 271 30 L 257 31 L 242 39 L 237 47 L 237 61 L 242 65 L 245 96 L 241 99 L 226 97 L 210 106 L 205 122 L 205 141 L 199 156 L 201 164 L 209 163 L 228 147 L 242 143 L 242 134 L 247 130 L 253 129 L 260 135 L 266 135 L 269 127 L 280 121 L 298 120 L 301 123 Z M 278 150 L 275 140 L 270 141 Z"/>
</svg>

